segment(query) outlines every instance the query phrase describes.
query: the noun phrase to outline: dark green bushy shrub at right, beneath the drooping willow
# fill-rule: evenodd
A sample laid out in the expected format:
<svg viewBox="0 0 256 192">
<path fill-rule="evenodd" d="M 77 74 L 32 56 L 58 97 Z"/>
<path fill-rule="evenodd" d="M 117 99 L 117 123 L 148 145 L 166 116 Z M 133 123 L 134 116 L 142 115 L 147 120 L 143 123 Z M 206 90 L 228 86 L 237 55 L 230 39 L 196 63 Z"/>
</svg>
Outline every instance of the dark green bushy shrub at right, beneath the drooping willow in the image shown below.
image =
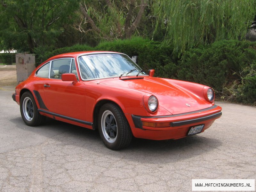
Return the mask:
<svg viewBox="0 0 256 192">
<path fill-rule="evenodd" d="M 223 99 L 255 105 L 255 63 L 256 43 L 219 41 L 188 50 L 179 61 L 177 77 L 211 86 Z"/>
</svg>

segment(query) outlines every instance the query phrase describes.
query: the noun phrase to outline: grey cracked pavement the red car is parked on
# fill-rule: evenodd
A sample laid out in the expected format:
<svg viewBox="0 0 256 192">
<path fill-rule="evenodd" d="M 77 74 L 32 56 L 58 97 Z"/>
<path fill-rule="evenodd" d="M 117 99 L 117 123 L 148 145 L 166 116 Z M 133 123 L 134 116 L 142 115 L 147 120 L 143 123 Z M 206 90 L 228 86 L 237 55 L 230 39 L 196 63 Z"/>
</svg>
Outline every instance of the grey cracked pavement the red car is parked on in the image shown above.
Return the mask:
<svg viewBox="0 0 256 192">
<path fill-rule="evenodd" d="M 216 102 L 222 117 L 180 140 L 134 139 L 120 151 L 98 132 L 47 119 L 29 127 L 0 88 L 0 191 L 192 191 L 192 179 L 256 179 L 256 108 Z"/>
</svg>

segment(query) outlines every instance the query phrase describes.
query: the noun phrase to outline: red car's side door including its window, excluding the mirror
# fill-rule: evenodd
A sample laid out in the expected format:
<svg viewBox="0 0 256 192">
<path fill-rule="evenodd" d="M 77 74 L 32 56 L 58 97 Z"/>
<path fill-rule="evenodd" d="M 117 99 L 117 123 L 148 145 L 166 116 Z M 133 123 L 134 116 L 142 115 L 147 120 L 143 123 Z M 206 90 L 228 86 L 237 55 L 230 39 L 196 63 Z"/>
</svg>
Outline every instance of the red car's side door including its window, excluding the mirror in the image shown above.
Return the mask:
<svg viewBox="0 0 256 192">
<path fill-rule="evenodd" d="M 51 61 L 50 78 L 44 84 L 44 95 L 49 111 L 76 119 L 85 119 L 85 85 L 61 80 L 63 73 L 77 76 L 75 60 L 61 58 Z"/>
</svg>

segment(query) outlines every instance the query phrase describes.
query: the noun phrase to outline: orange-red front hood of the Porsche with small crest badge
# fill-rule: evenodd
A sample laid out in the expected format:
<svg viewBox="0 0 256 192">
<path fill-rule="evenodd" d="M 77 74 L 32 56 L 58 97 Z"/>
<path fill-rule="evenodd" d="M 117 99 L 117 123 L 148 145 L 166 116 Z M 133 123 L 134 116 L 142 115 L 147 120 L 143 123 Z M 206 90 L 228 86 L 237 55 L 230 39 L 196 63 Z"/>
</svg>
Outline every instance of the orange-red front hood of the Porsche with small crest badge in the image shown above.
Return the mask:
<svg viewBox="0 0 256 192">
<path fill-rule="evenodd" d="M 124 77 L 119 79 L 101 79 L 97 82 L 113 87 L 123 87 L 150 93 L 156 96 L 159 106 L 166 109 L 171 114 L 192 112 L 209 108 L 213 105 L 188 90 L 179 88 L 157 77 Z M 127 92 L 127 95 L 129 95 L 129 92 Z"/>
</svg>

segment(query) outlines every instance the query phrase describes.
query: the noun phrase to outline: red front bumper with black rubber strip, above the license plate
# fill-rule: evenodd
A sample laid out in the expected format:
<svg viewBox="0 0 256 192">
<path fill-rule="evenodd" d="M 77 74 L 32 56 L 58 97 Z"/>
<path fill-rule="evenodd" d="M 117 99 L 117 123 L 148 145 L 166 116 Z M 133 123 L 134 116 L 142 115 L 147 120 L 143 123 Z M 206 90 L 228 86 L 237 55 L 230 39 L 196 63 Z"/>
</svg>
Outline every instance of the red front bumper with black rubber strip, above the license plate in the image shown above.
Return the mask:
<svg viewBox="0 0 256 192">
<path fill-rule="evenodd" d="M 214 105 L 210 108 L 169 116 L 135 116 L 132 115 L 133 125 L 132 133 L 134 137 L 151 139 L 151 140 L 167 140 L 180 139 L 187 136 L 191 126 L 204 124 L 205 129 L 209 128 L 215 119 L 221 116 L 221 107 Z M 144 122 L 150 123 L 169 123 L 166 127 L 149 127 L 143 126 Z"/>
</svg>

